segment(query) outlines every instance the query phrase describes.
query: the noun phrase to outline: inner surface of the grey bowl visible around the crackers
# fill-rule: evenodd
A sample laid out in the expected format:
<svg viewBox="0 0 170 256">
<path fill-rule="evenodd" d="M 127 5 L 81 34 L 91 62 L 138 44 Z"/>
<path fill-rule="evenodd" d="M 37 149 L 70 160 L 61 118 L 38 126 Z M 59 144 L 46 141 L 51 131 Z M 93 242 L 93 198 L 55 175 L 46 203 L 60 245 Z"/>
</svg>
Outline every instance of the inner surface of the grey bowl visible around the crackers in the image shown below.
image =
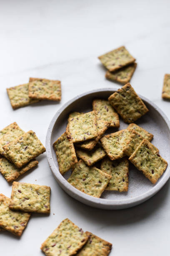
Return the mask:
<svg viewBox="0 0 170 256">
<path fill-rule="evenodd" d="M 88 112 L 92 110 L 92 100 L 95 98 L 107 99 L 115 90 L 100 90 L 97 92 L 91 92 L 87 95 L 83 95 L 82 97 L 77 97 L 75 101 L 68 104 L 65 108 L 61 108 L 59 115 L 57 115 L 57 119 L 54 120 L 54 126 L 51 132 L 50 138 L 50 149 L 52 153 L 52 160 L 57 167 L 56 169 L 52 169 L 54 175 L 58 175 L 58 164 L 57 158 L 55 156 L 55 152 L 52 148 L 52 144 L 56 141 L 56 139 L 65 132 L 65 128 L 67 125 L 67 118 L 70 112 L 78 111 L 78 112 Z M 145 102 L 146 106 L 150 110 L 146 115 L 137 120 L 135 123 L 145 128 L 150 133 L 153 133 L 154 138 L 152 143 L 160 150 L 160 155 L 170 162 L 170 130 L 168 128 L 168 124 L 160 114 L 160 110 L 157 110 L 157 107 L 153 106 L 152 103 L 148 102 L 148 100 L 141 97 Z M 120 128 L 109 128 L 107 133 L 112 133 L 118 130 L 122 130 L 127 128 L 128 124 L 124 123 L 120 118 Z M 99 163 L 100 164 L 100 163 Z M 58 173 L 57 173 L 58 172 Z M 168 168 L 166 170 L 168 171 Z M 166 173 L 165 172 L 165 173 Z M 59 174 L 61 175 L 61 174 Z M 65 174 L 64 178 L 67 179 L 70 176 L 70 171 Z M 164 179 L 165 174 L 159 179 L 156 184 L 152 184 L 145 176 L 138 171 L 138 169 L 130 164 L 129 166 L 129 189 L 128 192 L 113 192 L 113 191 L 105 191 L 103 192 L 101 198 L 115 200 L 121 203 L 125 203 L 125 200 L 133 199 L 135 197 L 141 196 L 146 192 L 152 190 L 155 186 Z M 99 199 L 100 200 L 100 199 Z"/>
</svg>

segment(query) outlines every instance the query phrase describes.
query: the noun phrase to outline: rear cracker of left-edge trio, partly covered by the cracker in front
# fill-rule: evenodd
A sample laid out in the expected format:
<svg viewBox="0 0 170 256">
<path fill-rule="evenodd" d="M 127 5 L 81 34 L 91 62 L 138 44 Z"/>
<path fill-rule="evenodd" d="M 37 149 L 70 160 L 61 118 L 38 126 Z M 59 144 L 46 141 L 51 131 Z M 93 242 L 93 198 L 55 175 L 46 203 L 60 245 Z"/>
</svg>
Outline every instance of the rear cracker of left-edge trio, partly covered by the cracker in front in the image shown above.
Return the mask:
<svg viewBox="0 0 170 256">
<path fill-rule="evenodd" d="M 4 134 L 2 138 L 0 139 L 0 154 L 2 156 L 7 157 L 7 154 L 5 153 L 3 146 L 6 144 L 9 144 L 10 142 L 15 141 L 16 138 L 23 135 L 25 132 L 18 126 L 17 123 L 13 123 L 10 125 L 10 131 Z"/>
</svg>

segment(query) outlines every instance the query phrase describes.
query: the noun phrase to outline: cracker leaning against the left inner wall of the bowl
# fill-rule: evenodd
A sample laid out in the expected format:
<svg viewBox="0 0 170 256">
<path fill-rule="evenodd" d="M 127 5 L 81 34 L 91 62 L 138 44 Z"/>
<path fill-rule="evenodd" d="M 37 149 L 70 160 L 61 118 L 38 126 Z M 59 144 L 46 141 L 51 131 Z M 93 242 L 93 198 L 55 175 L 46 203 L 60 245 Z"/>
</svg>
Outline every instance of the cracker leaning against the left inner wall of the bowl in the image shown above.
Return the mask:
<svg viewBox="0 0 170 256">
<path fill-rule="evenodd" d="M 68 133 L 63 133 L 53 144 L 61 174 L 67 172 L 77 163 L 75 148 L 72 141 L 67 139 L 68 136 Z"/>
</svg>

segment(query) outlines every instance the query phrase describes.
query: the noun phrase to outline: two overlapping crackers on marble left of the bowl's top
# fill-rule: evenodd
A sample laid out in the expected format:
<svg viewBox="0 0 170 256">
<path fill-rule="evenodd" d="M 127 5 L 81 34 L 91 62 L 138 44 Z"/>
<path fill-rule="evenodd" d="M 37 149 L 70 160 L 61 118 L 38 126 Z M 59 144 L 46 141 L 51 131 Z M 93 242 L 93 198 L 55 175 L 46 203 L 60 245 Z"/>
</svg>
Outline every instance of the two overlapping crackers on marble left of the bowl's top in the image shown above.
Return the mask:
<svg viewBox="0 0 170 256">
<path fill-rule="evenodd" d="M 7 88 L 13 109 L 28 106 L 40 100 L 61 100 L 61 82 L 30 77 L 29 83 Z"/>
</svg>

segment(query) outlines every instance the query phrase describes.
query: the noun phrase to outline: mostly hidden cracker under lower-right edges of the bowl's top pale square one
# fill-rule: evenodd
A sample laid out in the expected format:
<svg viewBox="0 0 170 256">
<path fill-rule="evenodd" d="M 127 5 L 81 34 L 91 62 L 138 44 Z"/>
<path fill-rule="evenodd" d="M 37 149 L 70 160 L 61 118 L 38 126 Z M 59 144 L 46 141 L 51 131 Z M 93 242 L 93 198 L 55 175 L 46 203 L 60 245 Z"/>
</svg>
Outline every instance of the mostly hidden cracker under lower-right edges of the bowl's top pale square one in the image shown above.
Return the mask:
<svg viewBox="0 0 170 256">
<path fill-rule="evenodd" d="M 102 138 L 103 134 L 105 133 L 105 131 L 109 126 L 110 126 L 109 122 L 97 120 L 97 133 L 98 133 L 97 137 L 94 140 L 77 143 L 76 146 L 78 148 L 92 150 L 97 144 L 97 142 L 100 140 L 100 138 Z"/>
</svg>

